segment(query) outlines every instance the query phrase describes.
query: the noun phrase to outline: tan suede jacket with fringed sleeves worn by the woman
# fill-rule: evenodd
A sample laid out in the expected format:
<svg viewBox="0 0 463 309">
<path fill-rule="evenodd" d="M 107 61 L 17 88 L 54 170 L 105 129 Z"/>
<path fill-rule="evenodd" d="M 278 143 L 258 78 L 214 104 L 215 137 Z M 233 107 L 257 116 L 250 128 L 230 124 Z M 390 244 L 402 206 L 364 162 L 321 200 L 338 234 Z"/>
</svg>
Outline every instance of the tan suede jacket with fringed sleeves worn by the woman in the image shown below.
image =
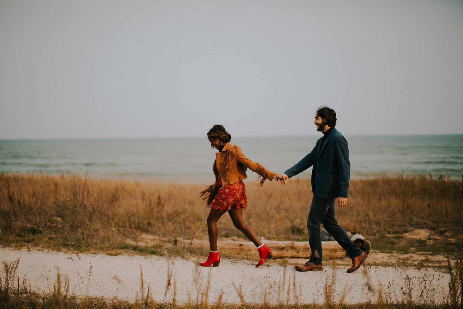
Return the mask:
<svg viewBox="0 0 463 309">
<path fill-rule="evenodd" d="M 222 180 L 222 186 L 224 187 L 248 178 L 246 176 L 247 168 L 259 175 L 257 179 L 262 178 L 259 182 L 259 186 L 262 186 L 266 179 L 272 181 L 273 177 L 275 177 L 275 173 L 267 170 L 261 164 L 246 158 L 237 145 L 226 143 L 224 148 L 215 154 L 215 161 L 212 167 L 216 179 L 215 183 L 210 185 L 206 190 L 200 192 L 203 200 L 207 200 L 208 203 L 214 199 L 219 190 L 217 184 L 219 172 L 217 172 L 216 167 L 219 167 L 220 178 Z"/>
</svg>

